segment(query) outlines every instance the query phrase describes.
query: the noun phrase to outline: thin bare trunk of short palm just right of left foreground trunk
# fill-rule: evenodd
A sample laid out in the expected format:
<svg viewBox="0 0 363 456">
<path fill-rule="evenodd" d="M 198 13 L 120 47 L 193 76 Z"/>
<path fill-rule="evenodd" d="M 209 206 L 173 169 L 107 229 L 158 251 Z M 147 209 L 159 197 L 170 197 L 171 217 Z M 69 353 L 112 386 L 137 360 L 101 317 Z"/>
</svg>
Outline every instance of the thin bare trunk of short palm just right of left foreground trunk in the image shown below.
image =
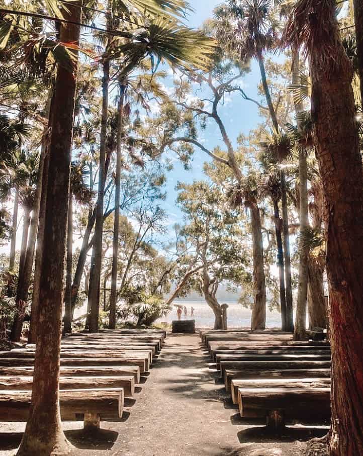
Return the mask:
<svg viewBox="0 0 363 456">
<path fill-rule="evenodd" d="M 73 193 L 69 189 L 63 334 L 72 332 Z"/>
</svg>

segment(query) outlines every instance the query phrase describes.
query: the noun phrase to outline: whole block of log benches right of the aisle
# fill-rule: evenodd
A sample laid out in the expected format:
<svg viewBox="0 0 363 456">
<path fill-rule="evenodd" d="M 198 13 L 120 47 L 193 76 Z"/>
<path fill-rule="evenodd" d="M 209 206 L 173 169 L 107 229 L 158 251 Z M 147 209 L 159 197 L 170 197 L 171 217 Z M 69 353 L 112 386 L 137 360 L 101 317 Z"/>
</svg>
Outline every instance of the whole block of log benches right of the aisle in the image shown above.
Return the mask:
<svg viewBox="0 0 363 456">
<path fill-rule="evenodd" d="M 330 419 L 330 345 L 294 342 L 282 331 L 201 331 L 215 368 L 242 418 L 263 418 L 281 430 L 286 420 Z"/>
</svg>

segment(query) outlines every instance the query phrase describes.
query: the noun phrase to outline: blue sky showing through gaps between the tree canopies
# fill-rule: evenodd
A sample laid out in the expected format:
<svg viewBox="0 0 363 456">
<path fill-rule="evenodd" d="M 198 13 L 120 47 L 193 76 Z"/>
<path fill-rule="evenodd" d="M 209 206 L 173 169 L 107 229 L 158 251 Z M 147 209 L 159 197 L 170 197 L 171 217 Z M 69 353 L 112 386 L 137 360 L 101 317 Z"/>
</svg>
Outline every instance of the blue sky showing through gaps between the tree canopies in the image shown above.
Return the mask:
<svg viewBox="0 0 363 456">
<path fill-rule="evenodd" d="M 192 0 L 191 4 L 195 11 L 188 17 L 188 26 L 200 27 L 205 20 L 212 17 L 214 7 L 220 3 L 220 0 Z M 257 63 L 253 61 L 251 62 L 251 72 L 244 77 L 243 85 L 246 93 L 251 98 L 261 100 L 257 95 L 257 85 L 259 81 L 260 74 L 258 66 Z M 224 121 L 230 139 L 234 144 L 236 144 L 236 139 L 241 132 L 248 134 L 259 121 L 257 106 L 238 96 L 234 96 L 231 102 L 220 108 L 220 115 Z M 209 149 L 213 149 L 218 145 L 223 147 L 224 145 L 221 140 L 221 135 L 213 123 L 211 123 L 210 127 L 203 133 L 203 138 L 205 140 L 204 145 Z M 199 149 L 196 149 L 192 168 L 190 170 L 186 171 L 183 168 L 183 165 L 176 161 L 174 163 L 174 168 L 167 174 L 167 199 L 163 203 L 163 208 L 168 213 L 168 223 L 170 226 L 173 223 L 182 222 L 182 214 L 175 204 L 177 196 L 175 185 L 178 181 L 192 183 L 193 180 L 204 178 L 205 176 L 202 172 L 202 168 L 205 161 L 208 161 L 207 155 Z"/>
</svg>

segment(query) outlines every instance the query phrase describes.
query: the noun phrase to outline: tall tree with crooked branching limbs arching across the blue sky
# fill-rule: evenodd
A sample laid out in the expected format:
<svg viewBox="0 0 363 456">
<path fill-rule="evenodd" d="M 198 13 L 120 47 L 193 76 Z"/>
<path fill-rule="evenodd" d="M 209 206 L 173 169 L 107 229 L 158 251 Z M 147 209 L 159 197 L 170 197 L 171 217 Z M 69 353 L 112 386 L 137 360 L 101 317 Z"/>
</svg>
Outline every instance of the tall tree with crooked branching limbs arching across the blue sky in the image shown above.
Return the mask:
<svg viewBox="0 0 363 456">
<path fill-rule="evenodd" d="M 222 164 L 233 173 L 234 190 L 232 193 L 237 195 L 237 199 L 242 195 L 241 188 L 245 184 L 243 166 L 241 164 L 238 148 L 234 148 L 231 138 L 228 135 L 225 123 L 220 114 L 220 107 L 226 94 L 240 95 L 245 100 L 251 100 L 245 93 L 239 79 L 245 72 L 245 68 L 238 67 L 232 62 L 221 62 L 216 56 L 213 70 L 209 72 L 181 72 L 180 77 L 175 81 L 174 94 L 169 98 L 168 103 L 160 107 L 159 116 L 150 119 L 141 130 L 152 131 L 149 144 L 145 145 L 145 153 L 152 157 L 160 156 L 166 150 L 175 152 L 180 160 L 187 166 L 194 147 L 197 147 L 214 162 Z M 208 91 L 207 99 L 191 97 L 192 84 L 198 84 Z M 205 96 L 203 95 L 203 98 Z M 253 101 L 253 100 L 252 100 Z M 255 102 L 255 101 L 254 101 Z M 255 102 L 258 104 L 258 102 Z M 206 122 L 211 120 L 218 128 L 222 136 L 223 145 L 226 152 L 219 147 L 211 150 L 200 140 L 200 131 L 206 126 Z M 242 199 L 242 202 L 244 200 Z M 265 326 L 265 275 L 263 268 L 263 243 L 262 235 L 259 231 L 260 213 L 257 204 L 250 206 L 250 214 L 253 218 L 253 242 L 254 242 L 254 290 L 255 308 L 253 311 L 251 327 L 253 329 L 264 328 Z M 258 237 L 255 237 L 257 235 Z M 259 316 L 257 318 L 257 316 Z M 256 317 L 256 318 L 255 318 Z"/>
</svg>

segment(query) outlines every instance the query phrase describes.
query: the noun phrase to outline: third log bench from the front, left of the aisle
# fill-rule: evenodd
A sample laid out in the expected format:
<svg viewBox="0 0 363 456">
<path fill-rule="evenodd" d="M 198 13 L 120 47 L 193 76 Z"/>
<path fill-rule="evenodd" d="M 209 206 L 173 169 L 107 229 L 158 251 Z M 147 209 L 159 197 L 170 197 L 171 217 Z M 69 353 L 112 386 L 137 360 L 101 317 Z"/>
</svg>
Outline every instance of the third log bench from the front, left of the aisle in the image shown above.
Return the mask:
<svg viewBox="0 0 363 456">
<path fill-rule="evenodd" d="M 33 376 L 32 366 L 23 367 L 1 367 L 0 376 Z M 140 368 L 137 366 L 79 366 L 79 367 L 60 367 L 60 376 L 66 377 L 105 377 L 105 376 L 132 376 L 135 383 L 140 383 Z"/>
</svg>

